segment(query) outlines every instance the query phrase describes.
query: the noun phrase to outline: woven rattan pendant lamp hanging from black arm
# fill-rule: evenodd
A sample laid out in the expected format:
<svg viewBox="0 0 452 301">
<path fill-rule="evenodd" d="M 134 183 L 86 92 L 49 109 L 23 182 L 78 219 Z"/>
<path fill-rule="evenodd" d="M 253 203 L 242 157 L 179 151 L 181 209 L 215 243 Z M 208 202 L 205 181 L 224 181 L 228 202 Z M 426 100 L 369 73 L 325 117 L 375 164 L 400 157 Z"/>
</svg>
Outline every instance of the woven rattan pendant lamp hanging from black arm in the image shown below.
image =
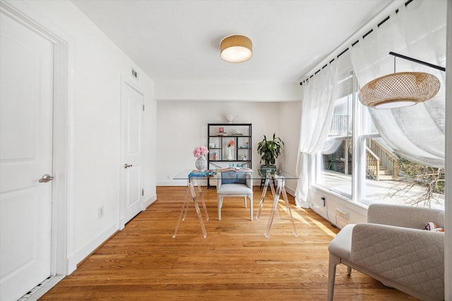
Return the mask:
<svg viewBox="0 0 452 301">
<path fill-rule="evenodd" d="M 394 73 L 368 82 L 359 91 L 359 101 L 375 109 L 394 109 L 412 106 L 432 99 L 441 84 L 434 75 L 423 72 L 396 73 L 396 56 L 445 71 L 446 68 L 389 52 L 394 57 Z"/>
</svg>

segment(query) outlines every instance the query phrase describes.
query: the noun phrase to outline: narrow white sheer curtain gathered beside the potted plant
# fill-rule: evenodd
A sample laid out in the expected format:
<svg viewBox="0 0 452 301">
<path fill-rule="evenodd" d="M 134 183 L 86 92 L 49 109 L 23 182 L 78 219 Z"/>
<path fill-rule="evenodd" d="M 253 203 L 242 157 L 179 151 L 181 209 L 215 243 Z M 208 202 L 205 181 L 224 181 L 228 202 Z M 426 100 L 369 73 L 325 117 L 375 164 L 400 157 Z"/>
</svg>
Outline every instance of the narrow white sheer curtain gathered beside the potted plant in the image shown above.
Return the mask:
<svg viewBox="0 0 452 301">
<path fill-rule="evenodd" d="M 337 61 L 337 60 L 336 60 Z M 338 64 L 333 61 L 323 68 L 312 80 L 304 85 L 302 99 L 302 118 L 297 157 L 299 180 L 295 190 L 298 206 L 309 208 L 307 202 L 309 187 L 309 158 L 311 154 L 323 149 L 333 118 L 334 87 L 337 82 Z"/>
</svg>

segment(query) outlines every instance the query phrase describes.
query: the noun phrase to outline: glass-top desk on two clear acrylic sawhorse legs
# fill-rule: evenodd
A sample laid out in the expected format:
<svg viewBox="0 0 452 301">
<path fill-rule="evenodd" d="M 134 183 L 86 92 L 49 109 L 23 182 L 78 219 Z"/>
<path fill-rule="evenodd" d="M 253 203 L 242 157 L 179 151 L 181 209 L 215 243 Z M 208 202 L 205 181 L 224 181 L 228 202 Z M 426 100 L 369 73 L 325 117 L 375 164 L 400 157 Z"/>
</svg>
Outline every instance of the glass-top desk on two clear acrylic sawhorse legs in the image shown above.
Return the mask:
<svg viewBox="0 0 452 301">
<path fill-rule="evenodd" d="M 182 208 L 179 214 L 179 218 L 177 219 L 176 229 L 174 230 L 174 234 L 172 238 L 176 237 L 177 230 L 179 228 L 179 223 L 182 219 L 182 221 L 185 220 L 186 211 L 189 207 L 189 197 L 188 192 L 191 192 L 191 199 L 193 200 L 195 204 L 196 214 L 198 215 L 199 222 L 201 223 L 201 230 L 203 231 L 204 238 L 206 238 L 206 228 L 204 227 L 203 218 L 201 216 L 201 210 L 199 209 L 198 200 L 196 199 L 196 193 L 194 186 L 198 186 L 198 192 L 201 197 L 201 204 L 203 205 L 203 209 L 206 213 L 206 221 L 209 220 L 207 209 L 206 209 L 206 202 L 204 202 L 203 192 L 201 190 L 201 180 L 205 180 L 207 177 L 210 178 L 216 178 L 218 171 L 226 172 L 226 171 L 235 171 L 237 173 L 247 173 L 251 171 L 251 177 L 256 180 L 265 180 L 265 184 L 263 185 L 262 195 L 261 195 L 261 202 L 259 202 L 259 208 L 256 214 L 256 220 L 258 220 L 261 216 L 261 210 L 263 207 L 263 202 L 266 197 L 266 192 L 268 187 L 270 186 L 270 190 L 273 195 L 273 205 L 270 211 L 270 216 L 268 217 L 266 232 L 264 235 L 266 238 L 270 235 L 270 228 L 273 223 L 273 218 L 275 216 L 275 213 L 278 212 L 278 218 L 281 218 L 281 214 L 278 208 L 278 201 L 280 199 L 280 196 L 283 195 L 283 199 L 285 202 L 285 207 L 287 210 L 287 215 L 289 216 L 290 225 L 292 226 L 292 233 L 295 235 L 295 237 L 298 237 L 297 229 L 295 228 L 295 224 L 292 218 L 292 211 L 290 210 L 290 204 L 289 200 L 287 199 L 287 192 L 285 190 L 285 180 L 286 179 L 298 179 L 298 177 L 292 176 L 290 174 L 287 174 L 283 171 L 280 171 L 279 169 L 258 169 L 258 170 L 251 170 L 249 168 L 222 168 L 220 170 L 213 170 L 209 171 L 208 175 L 200 175 L 200 176 L 190 176 L 191 169 L 186 169 L 185 171 L 182 171 L 182 173 L 179 173 L 177 176 L 174 176 L 174 180 L 187 180 L 187 190 L 184 202 L 182 204 Z M 183 217 L 182 217 L 183 216 Z"/>
</svg>

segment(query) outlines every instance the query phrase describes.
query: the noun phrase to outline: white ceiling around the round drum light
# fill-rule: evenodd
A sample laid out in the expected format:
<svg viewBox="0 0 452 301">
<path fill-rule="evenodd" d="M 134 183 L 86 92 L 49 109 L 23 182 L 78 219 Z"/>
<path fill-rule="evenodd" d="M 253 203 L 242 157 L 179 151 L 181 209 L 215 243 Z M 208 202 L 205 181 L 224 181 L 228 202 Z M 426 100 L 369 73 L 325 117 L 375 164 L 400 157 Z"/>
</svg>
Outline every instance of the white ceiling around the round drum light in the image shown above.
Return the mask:
<svg viewBox="0 0 452 301">
<path fill-rule="evenodd" d="M 391 1 L 72 0 L 159 81 L 302 80 Z M 246 35 L 253 56 L 220 58 L 220 41 Z"/>
</svg>

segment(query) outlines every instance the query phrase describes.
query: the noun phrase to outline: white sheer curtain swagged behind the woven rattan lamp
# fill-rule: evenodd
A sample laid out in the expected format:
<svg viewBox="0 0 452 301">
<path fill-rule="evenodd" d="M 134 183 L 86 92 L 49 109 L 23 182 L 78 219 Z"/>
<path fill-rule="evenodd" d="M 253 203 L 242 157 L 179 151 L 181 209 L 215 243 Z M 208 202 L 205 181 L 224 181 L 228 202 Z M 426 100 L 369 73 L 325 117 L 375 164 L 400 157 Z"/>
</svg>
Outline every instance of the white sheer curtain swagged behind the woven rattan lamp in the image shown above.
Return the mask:
<svg viewBox="0 0 452 301">
<path fill-rule="evenodd" d="M 446 66 L 446 1 L 413 1 L 379 28 L 350 47 L 359 86 L 394 72 L 389 51 L 434 65 Z M 435 75 L 439 93 L 427 102 L 401 109 L 369 109 L 383 140 L 410 161 L 444 166 L 445 73 L 396 59 L 396 72 L 417 71 Z"/>
</svg>

